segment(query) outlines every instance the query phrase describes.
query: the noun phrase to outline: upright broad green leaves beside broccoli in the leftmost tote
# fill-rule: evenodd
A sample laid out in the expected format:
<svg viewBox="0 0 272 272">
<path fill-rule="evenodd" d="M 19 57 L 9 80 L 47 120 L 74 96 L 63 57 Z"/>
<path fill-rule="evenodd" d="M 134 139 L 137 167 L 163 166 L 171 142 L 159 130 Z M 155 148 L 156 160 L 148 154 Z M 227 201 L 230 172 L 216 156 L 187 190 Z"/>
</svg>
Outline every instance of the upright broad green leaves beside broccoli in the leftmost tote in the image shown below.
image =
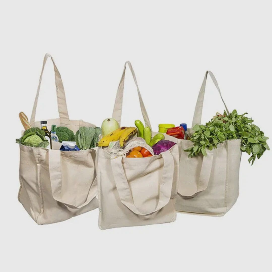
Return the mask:
<svg viewBox="0 0 272 272">
<path fill-rule="evenodd" d="M 85 126 L 80 127 L 75 135 L 76 145 L 81 150 L 94 148 L 101 133 L 102 131 L 100 128 L 86 128 Z"/>
</svg>

